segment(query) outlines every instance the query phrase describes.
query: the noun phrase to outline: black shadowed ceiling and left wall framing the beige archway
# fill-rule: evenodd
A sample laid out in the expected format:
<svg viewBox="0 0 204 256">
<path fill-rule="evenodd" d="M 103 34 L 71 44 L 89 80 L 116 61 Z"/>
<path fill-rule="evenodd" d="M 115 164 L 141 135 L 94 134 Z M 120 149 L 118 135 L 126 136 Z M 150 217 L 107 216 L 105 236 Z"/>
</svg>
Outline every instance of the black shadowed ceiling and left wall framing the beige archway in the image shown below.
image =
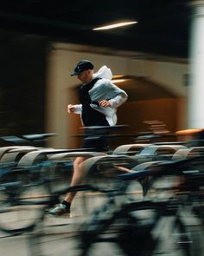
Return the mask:
<svg viewBox="0 0 204 256">
<path fill-rule="evenodd" d="M 80 43 L 188 58 L 190 1 L 46 1 L 0 3 L 0 135 L 44 132 L 50 42 Z M 117 30 L 92 29 L 116 21 Z"/>
</svg>

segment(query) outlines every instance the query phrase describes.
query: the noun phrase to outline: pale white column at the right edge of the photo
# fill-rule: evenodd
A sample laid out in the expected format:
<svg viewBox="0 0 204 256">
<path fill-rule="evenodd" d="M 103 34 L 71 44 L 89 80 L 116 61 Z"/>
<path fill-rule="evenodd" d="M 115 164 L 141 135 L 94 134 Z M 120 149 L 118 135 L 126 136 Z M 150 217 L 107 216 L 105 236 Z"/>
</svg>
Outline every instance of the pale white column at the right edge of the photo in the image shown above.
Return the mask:
<svg viewBox="0 0 204 256">
<path fill-rule="evenodd" d="M 204 1 L 192 1 L 188 128 L 204 128 Z"/>
</svg>

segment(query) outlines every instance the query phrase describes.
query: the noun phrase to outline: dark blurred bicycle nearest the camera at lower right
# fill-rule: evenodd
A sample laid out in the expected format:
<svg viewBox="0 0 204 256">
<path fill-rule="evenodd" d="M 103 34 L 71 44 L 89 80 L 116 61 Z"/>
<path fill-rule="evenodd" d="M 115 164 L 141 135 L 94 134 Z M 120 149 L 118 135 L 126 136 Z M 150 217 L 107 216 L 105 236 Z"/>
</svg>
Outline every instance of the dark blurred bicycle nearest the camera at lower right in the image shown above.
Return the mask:
<svg viewBox="0 0 204 256">
<path fill-rule="evenodd" d="M 201 161 L 202 158 L 188 159 L 185 161 L 163 161 L 160 167 L 153 170 L 123 174 L 120 178 L 125 181 L 119 183 L 113 194 L 109 193 L 109 199 L 105 204 L 92 214 L 91 219 L 83 226 L 80 232 L 80 248 L 78 255 L 102 255 L 101 244 L 105 247 L 110 244 L 115 246 L 105 251 L 106 255 L 202 255 L 201 254 L 201 235 L 203 229 L 196 225 L 196 230 L 192 232 L 192 226 L 187 225 L 184 221 L 186 200 L 178 194 L 173 194 L 167 200 L 147 200 L 147 201 L 130 201 L 122 203 L 120 207 L 115 207 L 115 196 L 124 195 L 128 187 L 127 181 L 141 179 L 147 176 L 161 177 L 163 175 L 172 175 L 170 169 L 176 168 L 173 174 L 187 175 L 197 181 L 193 172 L 184 173 L 190 163 Z M 201 162 L 200 162 L 201 164 Z M 203 160 L 202 160 L 203 165 Z M 203 182 L 203 173 L 199 180 Z M 199 186 L 201 183 L 199 184 Z M 124 187 L 123 187 L 124 186 Z M 196 184 L 198 186 L 198 184 Z M 150 187 L 149 187 L 150 188 Z M 115 194 L 116 193 L 116 194 Z M 203 201 L 202 201 L 203 202 Z M 188 218 L 191 211 L 187 211 Z M 184 214 L 184 219 L 183 219 Z M 164 220 L 164 223 L 163 223 Z M 197 220 L 201 220 L 198 216 Z M 161 224 L 162 223 L 162 224 Z M 167 225 L 169 224 L 169 225 Z M 162 225 L 162 226 L 161 226 Z M 164 226 L 163 226 L 164 225 Z M 167 236 L 161 236 L 161 228 L 168 228 Z M 173 230 L 176 231 L 172 236 Z M 201 233 L 200 233 L 201 232 Z M 169 241 L 168 246 L 164 246 Z M 98 247 L 99 246 L 99 247 Z M 113 251 L 113 248 L 116 248 Z M 195 251 L 199 249 L 199 251 Z M 118 254 L 118 251 L 120 254 Z M 196 253 L 195 253 L 196 252 Z M 98 253 L 98 254 L 97 254 Z M 104 252 L 103 252 L 104 253 Z"/>
</svg>

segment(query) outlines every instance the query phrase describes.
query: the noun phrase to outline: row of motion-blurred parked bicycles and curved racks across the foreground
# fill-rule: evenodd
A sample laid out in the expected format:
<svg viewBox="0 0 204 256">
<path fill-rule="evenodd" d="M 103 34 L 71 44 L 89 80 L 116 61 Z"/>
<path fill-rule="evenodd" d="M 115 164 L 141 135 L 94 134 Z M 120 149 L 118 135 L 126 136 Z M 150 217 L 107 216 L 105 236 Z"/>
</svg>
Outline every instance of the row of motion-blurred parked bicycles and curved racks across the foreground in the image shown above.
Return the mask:
<svg viewBox="0 0 204 256">
<path fill-rule="evenodd" d="M 98 255 L 98 246 L 104 243 L 114 244 L 109 250 L 112 255 L 202 255 L 203 153 L 204 147 L 178 142 L 126 144 L 107 154 L 2 147 L 0 229 L 11 234 L 35 232 L 46 210 L 62 194 L 91 191 L 103 194 L 105 201 L 82 221 L 76 255 Z M 70 187 L 73 159 L 79 155 L 90 156 L 83 163 L 86 179 L 82 185 Z M 135 193 L 138 184 L 142 197 Z M 164 196 L 166 192 L 168 196 Z M 193 233 L 187 216 L 198 223 Z M 165 235 L 161 233 L 163 220 L 169 225 Z"/>
</svg>

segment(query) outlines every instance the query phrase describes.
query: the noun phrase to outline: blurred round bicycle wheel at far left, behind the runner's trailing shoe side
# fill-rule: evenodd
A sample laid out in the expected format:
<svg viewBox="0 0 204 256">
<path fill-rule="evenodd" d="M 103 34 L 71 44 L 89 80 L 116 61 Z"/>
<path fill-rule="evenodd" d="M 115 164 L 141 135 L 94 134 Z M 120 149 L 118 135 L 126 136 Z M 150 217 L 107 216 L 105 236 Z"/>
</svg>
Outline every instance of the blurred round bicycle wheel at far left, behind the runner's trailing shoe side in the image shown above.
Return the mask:
<svg viewBox="0 0 204 256">
<path fill-rule="evenodd" d="M 36 173 L 10 171 L 0 183 L 0 230 L 20 234 L 31 231 L 43 219 L 49 190 Z"/>
</svg>

